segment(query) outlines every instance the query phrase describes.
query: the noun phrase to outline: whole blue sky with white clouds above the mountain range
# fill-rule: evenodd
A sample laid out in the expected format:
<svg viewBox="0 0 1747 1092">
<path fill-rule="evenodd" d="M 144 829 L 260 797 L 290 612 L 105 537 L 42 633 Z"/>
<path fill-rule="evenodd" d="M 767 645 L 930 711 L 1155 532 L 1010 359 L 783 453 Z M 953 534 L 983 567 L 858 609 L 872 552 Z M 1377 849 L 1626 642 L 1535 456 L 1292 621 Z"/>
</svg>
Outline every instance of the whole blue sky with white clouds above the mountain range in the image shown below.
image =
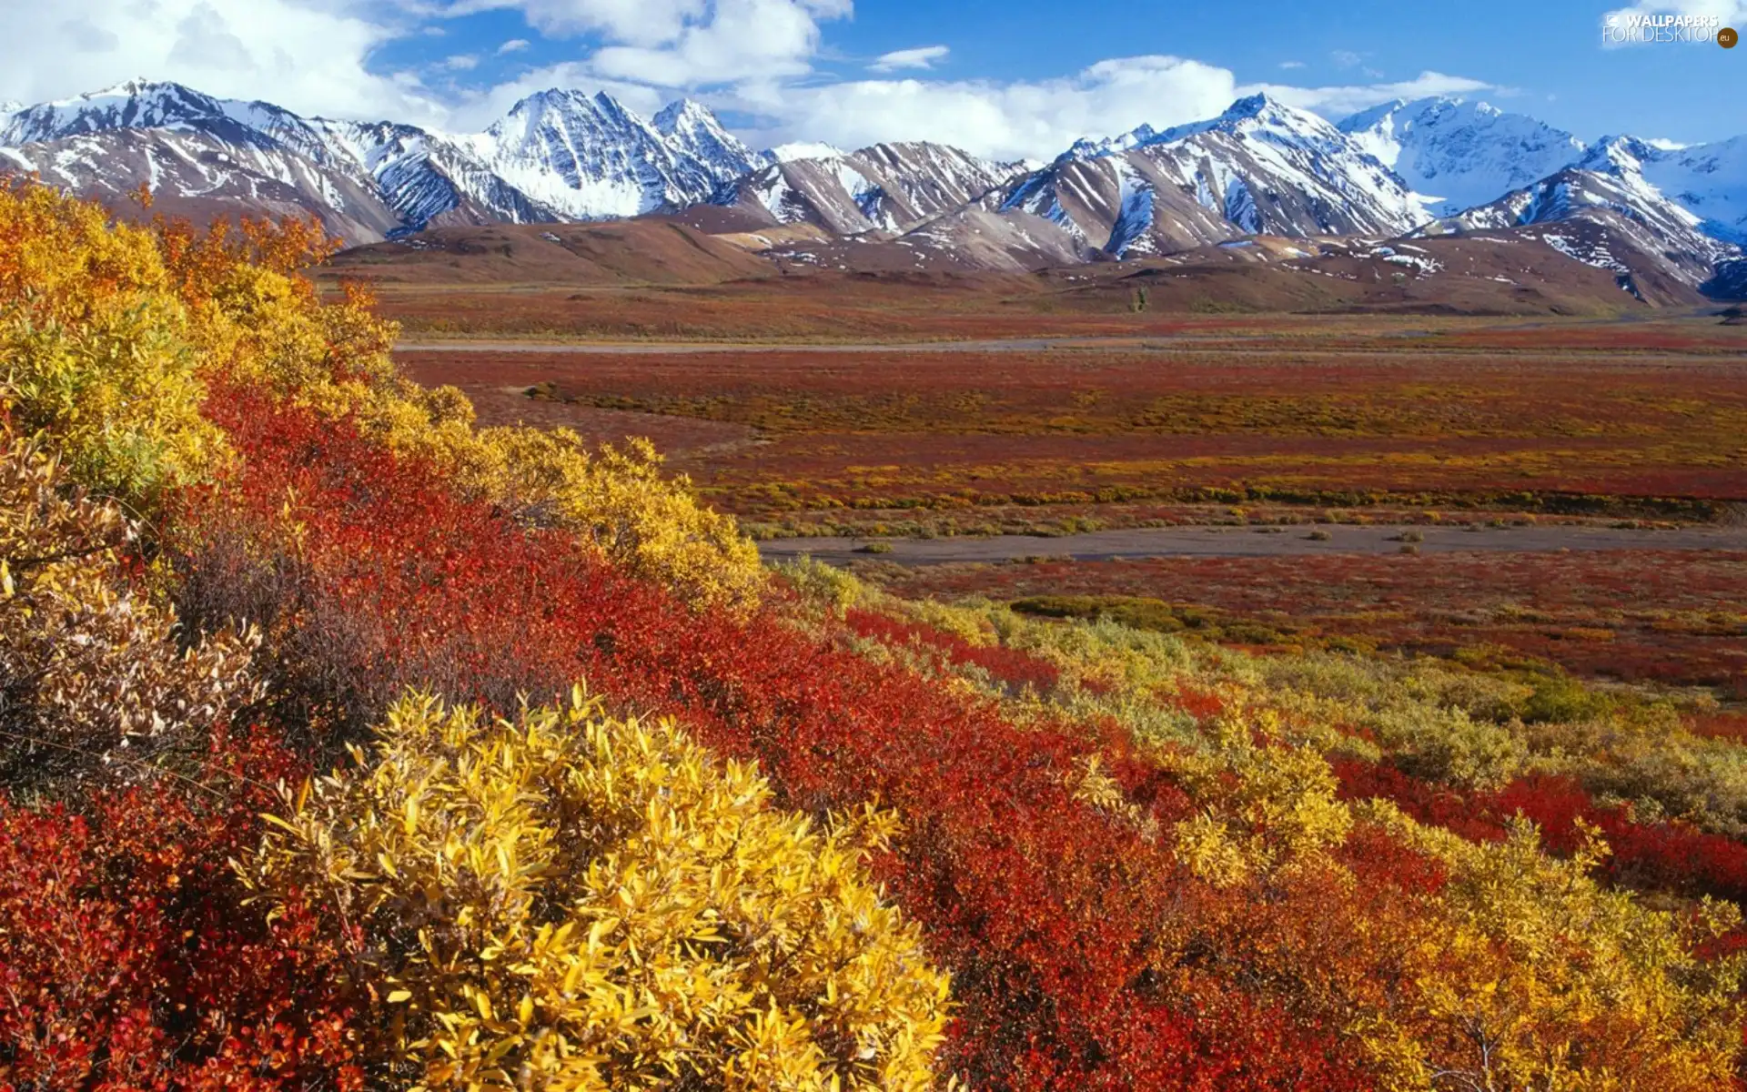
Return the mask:
<svg viewBox="0 0 1747 1092">
<path fill-rule="evenodd" d="M 0 100 L 145 75 L 477 129 L 550 86 L 676 94 L 758 143 L 1053 156 L 1268 89 L 1338 117 L 1455 93 L 1567 128 L 1747 133 L 1747 45 L 1604 47 L 1612 14 L 1747 30 L 1747 0 L 0 0 Z"/>
</svg>

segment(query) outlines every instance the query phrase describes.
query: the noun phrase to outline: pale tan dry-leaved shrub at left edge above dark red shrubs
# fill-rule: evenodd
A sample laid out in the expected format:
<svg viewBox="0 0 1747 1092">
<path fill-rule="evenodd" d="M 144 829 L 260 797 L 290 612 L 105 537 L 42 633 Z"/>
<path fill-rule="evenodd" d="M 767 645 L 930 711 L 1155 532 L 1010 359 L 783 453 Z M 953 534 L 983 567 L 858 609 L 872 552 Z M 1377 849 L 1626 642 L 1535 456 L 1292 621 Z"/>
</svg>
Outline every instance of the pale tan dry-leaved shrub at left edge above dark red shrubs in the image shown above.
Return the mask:
<svg viewBox="0 0 1747 1092">
<path fill-rule="evenodd" d="M 199 760 L 257 697 L 255 634 L 178 629 L 136 578 L 138 524 L 0 423 L 0 786 L 66 791 Z"/>
</svg>

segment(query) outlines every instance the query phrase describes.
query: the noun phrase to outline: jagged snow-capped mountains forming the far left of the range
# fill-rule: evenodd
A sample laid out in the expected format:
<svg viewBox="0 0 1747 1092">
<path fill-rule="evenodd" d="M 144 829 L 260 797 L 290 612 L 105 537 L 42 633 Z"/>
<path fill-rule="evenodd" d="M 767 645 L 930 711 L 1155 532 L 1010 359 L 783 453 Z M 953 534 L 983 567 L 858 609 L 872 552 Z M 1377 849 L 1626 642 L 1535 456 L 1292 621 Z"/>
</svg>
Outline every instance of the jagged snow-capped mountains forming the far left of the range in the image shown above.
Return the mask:
<svg viewBox="0 0 1747 1092">
<path fill-rule="evenodd" d="M 486 133 L 451 136 L 131 80 L 7 115 L 0 156 L 79 192 L 147 183 L 194 215 L 313 213 L 355 243 L 432 224 L 680 208 L 763 162 L 697 103 L 660 119 L 606 94 L 547 91 Z"/>
</svg>

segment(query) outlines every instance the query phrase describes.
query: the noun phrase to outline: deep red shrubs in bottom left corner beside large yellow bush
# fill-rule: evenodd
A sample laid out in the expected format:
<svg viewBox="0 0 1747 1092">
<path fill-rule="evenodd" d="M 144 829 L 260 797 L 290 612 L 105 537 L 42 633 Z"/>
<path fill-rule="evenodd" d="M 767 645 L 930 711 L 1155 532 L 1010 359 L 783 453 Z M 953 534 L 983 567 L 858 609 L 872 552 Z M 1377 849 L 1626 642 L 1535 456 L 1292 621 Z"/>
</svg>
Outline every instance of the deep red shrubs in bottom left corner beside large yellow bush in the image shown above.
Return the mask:
<svg viewBox="0 0 1747 1092">
<path fill-rule="evenodd" d="M 0 1087 L 362 1087 L 314 931 L 269 926 L 229 865 L 281 772 L 253 744 L 89 814 L 0 802 Z"/>
</svg>

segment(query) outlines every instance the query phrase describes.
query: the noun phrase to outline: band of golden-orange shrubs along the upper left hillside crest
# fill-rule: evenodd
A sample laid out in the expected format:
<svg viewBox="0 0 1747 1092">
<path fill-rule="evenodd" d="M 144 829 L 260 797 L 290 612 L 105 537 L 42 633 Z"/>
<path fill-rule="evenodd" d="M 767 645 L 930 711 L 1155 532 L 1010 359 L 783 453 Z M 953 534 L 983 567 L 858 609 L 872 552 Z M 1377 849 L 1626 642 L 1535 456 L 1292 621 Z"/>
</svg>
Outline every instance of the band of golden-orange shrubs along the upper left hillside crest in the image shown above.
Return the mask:
<svg viewBox="0 0 1747 1092">
<path fill-rule="evenodd" d="M 646 442 L 590 453 L 564 430 L 480 430 L 461 391 L 400 377 L 397 327 L 369 297 L 323 302 L 302 276 L 330 248 L 297 220 L 143 229 L 49 187 L 0 187 L 0 391 L 79 480 L 152 503 L 227 465 L 201 414 L 215 388 L 271 391 L 353 418 L 463 494 L 561 526 L 695 603 L 756 599 L 756 549 L 688 482 L 664 477 Z"/>
</svg>

